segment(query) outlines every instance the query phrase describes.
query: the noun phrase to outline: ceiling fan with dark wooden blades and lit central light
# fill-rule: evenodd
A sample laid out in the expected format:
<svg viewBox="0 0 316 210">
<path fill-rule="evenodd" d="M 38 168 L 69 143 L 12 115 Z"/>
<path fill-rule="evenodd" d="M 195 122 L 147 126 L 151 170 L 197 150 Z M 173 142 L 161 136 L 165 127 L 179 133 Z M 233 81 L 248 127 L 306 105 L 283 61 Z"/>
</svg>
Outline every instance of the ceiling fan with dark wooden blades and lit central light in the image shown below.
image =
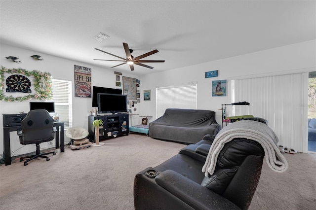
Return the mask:
<svg viewBox="0 0 316 210">
<path fill-rule="evenodd" d="M 104 52 L 104 53 L 107 53 L 109 55 L 115 56 L 115 57 L 120 58 L 122 60 L 103 60 L 103 59 L 93 59 L 93 60 L 96 60 L 96 61 L 122 61 L 124 63 L 118 64 L 118 65 L 116 65 L 114 67 L 118 67 L 118 66 L 123 65 L 123 64 L 128 64 L 130 70 L 134 70 L 134 64 L 142 66 L 142 67 L 146 67 L 146 68 L 149 68 L 149 69 L 154 69 L 154 67 L 150 67 L 150 66 L 142 64 L 142 63 L 163 63 L 164 62 L 164 60 L 140 60 L 140 59 L 145 58 L 147 56 L 150 56 L 150 55 L 153 55 L 155 53 L 158 53 L 158 50 L 153 50 L 153 51 L 150 51 L 148 53 L 145 53 L 143 55 L 140 55 L 140 56 L 137 56 L 137 57 L 134 58 L 134 56 L 131 55 L 133 50 L 129 49 L 128 44 L 123 42 L 123 47 L 124 47 L 124 50 L 125 50 L 125 53 L 126 53 L 126 58 L 122 58 L 122 57 L 119 57 L 119 56 L 114 55 L 112 53 L 108 53 L 108 52 L 105 52 L 103 50 L 94 48 L 96 50 L 99 50 L 101 52 Z M 114 67 L 111 67 L 111 68 L 114 68 Z"/>
</svg>

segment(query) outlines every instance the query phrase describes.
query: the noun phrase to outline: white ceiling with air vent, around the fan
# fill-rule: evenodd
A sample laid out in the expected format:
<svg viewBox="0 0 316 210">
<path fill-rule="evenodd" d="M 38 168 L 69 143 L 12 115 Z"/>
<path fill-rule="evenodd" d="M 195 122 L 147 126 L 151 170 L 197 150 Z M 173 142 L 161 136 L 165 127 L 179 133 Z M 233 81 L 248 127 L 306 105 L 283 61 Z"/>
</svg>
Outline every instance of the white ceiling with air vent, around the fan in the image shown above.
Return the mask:
<svg viewBox="0 0 316 210">
<path fill-rule="evenodd" d="M 94 39 L 100 32 L 110 37 Z M 134 74 L 198 63 L 316 39 L 315 0 L 1 0 L 1 43 L 111 69 L 154 49 Z M 1 55 L 16 56 L 15 55 Z M 43 59 L 45 59 L 43 57 Z M 22 61 L 23 62 L 23 61 Z M 88 67 L 88 66 L 87 66 Z M 113 68 L 130 72 L 127 64 Z"/>
</svg>

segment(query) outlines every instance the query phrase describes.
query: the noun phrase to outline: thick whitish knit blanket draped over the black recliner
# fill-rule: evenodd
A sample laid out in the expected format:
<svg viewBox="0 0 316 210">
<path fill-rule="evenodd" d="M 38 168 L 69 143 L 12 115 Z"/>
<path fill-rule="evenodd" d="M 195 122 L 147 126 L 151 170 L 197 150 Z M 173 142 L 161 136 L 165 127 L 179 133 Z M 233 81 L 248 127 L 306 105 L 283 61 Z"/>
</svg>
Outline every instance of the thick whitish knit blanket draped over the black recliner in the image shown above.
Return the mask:
<svg viewBox="0 0 316 210">
<path fill-rule="evenodd" d="M 217 157 L 224 144 L 236 138 L 259 142 L 264 149 L 265 158 L 270 169 L 278 173 L 287 170 L 288 163 L 278 149 L 278 138 L 273 130 L 261 122 L 241 120 L 224 127 L 216 135 L 202 168 L 205 176 L 208 176 L 208 174 L 213 175 Z"/>
</svg>

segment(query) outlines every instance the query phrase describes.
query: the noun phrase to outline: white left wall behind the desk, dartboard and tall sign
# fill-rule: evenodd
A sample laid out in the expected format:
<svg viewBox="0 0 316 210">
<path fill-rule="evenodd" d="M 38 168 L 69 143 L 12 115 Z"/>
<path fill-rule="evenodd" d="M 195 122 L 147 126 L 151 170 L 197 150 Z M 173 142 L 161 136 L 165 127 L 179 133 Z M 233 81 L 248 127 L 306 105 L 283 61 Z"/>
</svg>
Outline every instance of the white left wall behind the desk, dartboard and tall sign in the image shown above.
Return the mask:
<svg viewBox="0 0 316 210">
<path fill-rule="evenodd" d="M 31 51 L 27 49 L 16 48 L 13 46 L 5 45 L 1 43 L 0 49 L 0 65 L 7 68 L 22 68 L 25 70 L 39 70 L 47 71 L 51 73 L 52 77 L 55 79 L 67 79 L 73 81 L 73 127 L 83 127 L 88 129 L 88 115 L 90 115 L 89 110 L 92 110 L 92 98 L 79 98 L 74 97 L 74 65 L 84 66 L 92 69 L 91 83 L 92 86 L 117 88 L 115 86 L 116 75 L 114 74 L 114 69 L 104 69 L 97 66 L 92 66 L 89 64 L 80 63 L 77 61 L 67 60 L 56 56 L 46 55 L 36 51 Z M 32 59 L 31 55 L 40 55 L 44 60 L 38 61 Z M 5 57 L 15 56 L 21 60 L 21 63 L 12 62 Z M 132 74 L 123 73 L 122 76 L 133 77 Z M 138 78 L 137 78 L 138 79 Z M 5 93 L 7 94 L 7 93 Z M 34 101 L 34 100 L 32 100 Z M 135 105 L 137 107 L 138 105 Z M 11 114 L 19 112 L 29 111 L 29 101 L 24 102 L 3 102 L 0 101 L 0 154 L 3 153 L 3 118 L 2 114 Z M 138 113 L 137 111 L 135 113 Z M 69 141 L 65 137 L 65 142 Z M 20 144 L 16 132 L 10 132 L 10 142 L 11 151 L 15 151 L 21 148 L 23 145 Z M 54 143 L 54 141 L 52 141 Z M 55 144 L 55 143 L 54 143 Z M 48 143 L 40 144 L 41 148 L 51 147 Z M 24 154 L 28 152 L 35 151 L 35 146 L 26 145 L 23 148 L 15 152 L 15 155 Z"/>
</svg>

